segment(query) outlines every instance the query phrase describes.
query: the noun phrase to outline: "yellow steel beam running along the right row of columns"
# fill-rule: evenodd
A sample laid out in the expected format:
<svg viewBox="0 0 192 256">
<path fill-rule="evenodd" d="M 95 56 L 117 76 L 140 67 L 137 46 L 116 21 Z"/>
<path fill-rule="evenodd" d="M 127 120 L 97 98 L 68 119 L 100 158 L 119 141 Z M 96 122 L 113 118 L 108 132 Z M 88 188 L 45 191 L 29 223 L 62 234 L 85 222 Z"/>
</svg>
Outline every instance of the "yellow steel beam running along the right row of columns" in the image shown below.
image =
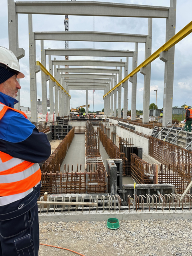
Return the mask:
<svg viewBox="0 0 192 256">
<path fill-rule="evenodd" d="M 150 64 L 152 61 L 154 61 L 156 58 L 159 57 L 161 52 L 168 51 L 172 46 L 180 42 L 183 38 L 188 36 L 192 32 L 192 21 L 187 24 L 182 30 L 180 30 L 177 34 L 175 34 L 170 40 L 168 40 L 165 44 L 163 44 L 156 52 L 154 52 L 151 56 L 149 56 L 144 62 L 142 62 L 138 67 L 136 67 L 128 76 L 126 76 L 121 82 L 119 82 L 116 86 L 114 86 L 109 92 L 107 92 L 104 96 L 106 97 L 108 94 L 110 94 L 112 91 L 114 91 L 116 88 L 118 88 L 122 83 L 126 82 L 130 76 L 134 76 L 136 73 L 140 71 L 142 67 L 146 67 L 148 64 Z"/>
</svg>

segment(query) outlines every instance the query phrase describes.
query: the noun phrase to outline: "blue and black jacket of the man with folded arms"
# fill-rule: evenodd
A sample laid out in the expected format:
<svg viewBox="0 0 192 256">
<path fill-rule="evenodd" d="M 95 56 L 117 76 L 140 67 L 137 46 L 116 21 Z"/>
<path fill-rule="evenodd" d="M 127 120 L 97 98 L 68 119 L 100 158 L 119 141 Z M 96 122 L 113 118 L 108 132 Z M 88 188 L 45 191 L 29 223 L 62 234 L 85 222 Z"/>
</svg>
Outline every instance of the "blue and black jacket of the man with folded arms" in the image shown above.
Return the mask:
<svg viewBox="0 0 192 256">
<path fill-rule="evenodd" d="M 0 92 L 0 102 L 14 108 L 18 101 Z M 32 163 L 42 163 L 51 154 L 46 134 L 22 114 L 7 110 L 0 120 L 0 151 Z"/>
</svg>

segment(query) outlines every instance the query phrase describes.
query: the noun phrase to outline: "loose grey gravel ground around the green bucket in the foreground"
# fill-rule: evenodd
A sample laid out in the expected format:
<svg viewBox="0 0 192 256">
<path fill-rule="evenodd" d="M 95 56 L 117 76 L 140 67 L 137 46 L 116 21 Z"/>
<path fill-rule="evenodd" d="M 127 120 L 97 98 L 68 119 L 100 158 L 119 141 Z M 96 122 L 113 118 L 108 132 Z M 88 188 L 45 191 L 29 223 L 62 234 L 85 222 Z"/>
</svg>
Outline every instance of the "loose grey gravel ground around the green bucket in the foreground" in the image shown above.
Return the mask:
<svg viewBox="0 0 192 256">
<path fill-rule="evenodd" d="M 191 256 L 192 220 L 128 220 L 111 230 L 102 222 L 40 222 L 40 243 L 85 256 Z M 39 256 L 78 255 L 40 245 Z"/>
</svg>

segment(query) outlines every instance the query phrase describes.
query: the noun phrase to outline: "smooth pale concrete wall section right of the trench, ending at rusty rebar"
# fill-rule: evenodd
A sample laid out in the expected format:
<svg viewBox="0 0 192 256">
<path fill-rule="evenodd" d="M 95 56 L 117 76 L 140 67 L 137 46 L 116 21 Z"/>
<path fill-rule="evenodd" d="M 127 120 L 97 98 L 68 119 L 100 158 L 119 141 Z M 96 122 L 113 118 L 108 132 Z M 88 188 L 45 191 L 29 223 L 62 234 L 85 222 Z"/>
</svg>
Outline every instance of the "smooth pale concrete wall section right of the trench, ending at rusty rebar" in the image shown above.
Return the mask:
<svg viewBox="0 0 192 256">
<path fill-rule="evenodd" d="M 130 132 L 128 130 L 125 130 L 123 128 L 120 128 L 116 126 L 116 133 L 118 136 L 126 138 L 132 138 L 134 146 L 140 146 L 143 148 L 143 153 L 148 155 L 148 149 L 149 149 L 149 140 L 139 136 L 137 134 L 134 134 L 133 132 Z"/>
</svg>

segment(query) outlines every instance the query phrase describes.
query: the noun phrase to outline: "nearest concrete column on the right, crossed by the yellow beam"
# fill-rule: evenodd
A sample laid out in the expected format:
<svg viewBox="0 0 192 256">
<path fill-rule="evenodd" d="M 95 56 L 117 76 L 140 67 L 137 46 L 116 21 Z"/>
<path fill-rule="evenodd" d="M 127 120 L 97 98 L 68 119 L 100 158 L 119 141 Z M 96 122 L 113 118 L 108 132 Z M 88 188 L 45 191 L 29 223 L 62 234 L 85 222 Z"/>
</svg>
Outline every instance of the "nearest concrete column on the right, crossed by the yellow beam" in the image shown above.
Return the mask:
<svg viewBox="0 0 192 256">
<path fill-rule="evenodd" d="M 170 0 L 169 16 L 166 21 L 166 42 L 175 35 L 176 24 L 176 0 Z M 174 57 L 175 46 L 167 52 L 167 61 L 165 62 L 164 75 L 164 93 L 163 93 L 163 122 L 165 126 L 172 121 L 173 104 L 173 80 L 174 80 Z M 170 126 L 171 124 L 169 124 Z"/>
</svg>

